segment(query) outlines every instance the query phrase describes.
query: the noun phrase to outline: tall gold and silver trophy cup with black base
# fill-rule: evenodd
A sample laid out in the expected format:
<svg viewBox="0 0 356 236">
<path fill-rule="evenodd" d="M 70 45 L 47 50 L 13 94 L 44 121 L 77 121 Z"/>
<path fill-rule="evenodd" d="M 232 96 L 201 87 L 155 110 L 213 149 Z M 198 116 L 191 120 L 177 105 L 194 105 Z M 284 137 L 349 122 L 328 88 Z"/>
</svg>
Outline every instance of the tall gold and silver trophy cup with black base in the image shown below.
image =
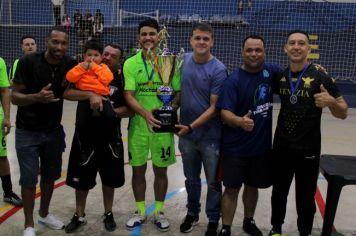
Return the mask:
<svg viewBox="0 0 356 236">
<path fill-rule="evenodd" d="M 171 81 L 175 74 L 180 73 L 180 67 L 183 64 L 184 50 L 175 55 L 167 46 L 168 31 L 166 27 L 159 32 L 160 42 L 157 55 L 151 56 L 151 64 L 154 66 L 163 83 L 157 89 L 157 96 L 163 102 L 163 106 L 158 110 L 153 111 L 153 116 L 161 121 L 161 127 L 153 127 L 153 131 L 157 133 L 162 132 L 177 132 L 175 124 L 178 123 L 177 111 L 171 106 L 171 101 L 174 98 L 175 92 L 171 87 Z M 162 48 L 162 49 L 161 49 Z"/>
</svg>

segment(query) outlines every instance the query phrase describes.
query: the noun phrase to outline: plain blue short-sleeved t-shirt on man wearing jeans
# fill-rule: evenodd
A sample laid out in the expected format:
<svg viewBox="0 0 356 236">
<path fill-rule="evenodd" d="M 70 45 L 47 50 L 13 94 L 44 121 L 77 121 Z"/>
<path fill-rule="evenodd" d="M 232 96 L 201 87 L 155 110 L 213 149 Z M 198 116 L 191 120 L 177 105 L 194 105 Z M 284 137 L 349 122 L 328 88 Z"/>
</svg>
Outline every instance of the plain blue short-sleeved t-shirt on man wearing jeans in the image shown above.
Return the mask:
<svg viewBox="0 0 356 236">
<path fill-rule="evenodd" d="M 191 124 L 210 107 L 210 96 L 220 95 L 227 77 L 225 65 L 217 58 L 196 63 L 192 53 L 186 53 L 182 67 L 180 122 Z M 191 140 L 220 140 L 220 116 L 215 116 L 184 137 Z"/>
</svg>

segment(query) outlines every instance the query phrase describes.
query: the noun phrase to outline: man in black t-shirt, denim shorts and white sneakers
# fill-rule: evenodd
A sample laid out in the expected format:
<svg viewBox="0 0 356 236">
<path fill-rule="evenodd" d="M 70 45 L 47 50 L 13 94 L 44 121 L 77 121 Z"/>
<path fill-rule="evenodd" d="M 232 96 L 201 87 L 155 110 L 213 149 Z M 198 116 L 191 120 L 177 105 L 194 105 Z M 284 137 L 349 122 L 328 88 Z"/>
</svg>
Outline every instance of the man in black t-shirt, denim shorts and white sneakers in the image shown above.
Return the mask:
<svg viewBox="0 0 356 236">
<path fill-rule="evenodd" d="M 54 182 L 61 176 L 64 132 L 61 126 L 65 75 L 76 61 L 66 52 L 69 37 L 62 27 L 50 30 L 44 52 L 22 57 L 13 80 L 11 101 L 18 106 L 15 148 L 25 214 L 24 236 L 35 235 L 33 208 L 41 173 L 38 222 L 52 229 L 64 224 L 49 214 Z M 40 165 L 41 163 L 41 165 Z"/>
</svg>

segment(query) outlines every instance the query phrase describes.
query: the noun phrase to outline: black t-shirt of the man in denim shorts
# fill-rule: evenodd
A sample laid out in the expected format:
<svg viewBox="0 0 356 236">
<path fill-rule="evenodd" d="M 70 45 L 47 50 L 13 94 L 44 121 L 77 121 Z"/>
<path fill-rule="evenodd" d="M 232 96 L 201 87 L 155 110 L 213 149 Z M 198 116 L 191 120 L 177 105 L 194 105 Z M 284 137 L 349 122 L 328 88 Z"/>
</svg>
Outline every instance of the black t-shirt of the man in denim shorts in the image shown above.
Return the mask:
<svg viewBox="0 0 356 236">
<path fill-rule="evenodd" d="M 52 84 L 51 89 L 58 102 L 34 103 L 28 106 L 18 106 L 16 127 L 32 131 L 49 131 L 60 126 L 63 111 L 63 92 L 67 87 L 65 75 L 77 64 L 69 56 L 61 63 L 50 65 L 45 52 L 31 53 L 22 57 L 17 65 L 14 83 L 24 85 L 25 94 L 38 93 L 41 89 Z"/>
</svg>

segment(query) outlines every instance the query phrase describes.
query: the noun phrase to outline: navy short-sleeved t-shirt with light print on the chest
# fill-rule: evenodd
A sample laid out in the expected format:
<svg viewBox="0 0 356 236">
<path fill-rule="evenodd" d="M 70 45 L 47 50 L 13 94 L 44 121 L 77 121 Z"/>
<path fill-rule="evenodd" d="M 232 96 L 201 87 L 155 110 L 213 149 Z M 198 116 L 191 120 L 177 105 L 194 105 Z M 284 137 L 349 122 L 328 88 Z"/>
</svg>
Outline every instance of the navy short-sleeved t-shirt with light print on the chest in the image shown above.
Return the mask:
<svg viewBox="0 0 356 236">
<path fill-rule="evenodd" d="M 249 73 L 239 68 L 224 82 L 217 108 L 240 117 L 251 111 L 251 119 L 254 121 L 251 132 L 241 127 L 224 125 L 224 158 L 258 156 L 272 148 L 272 82 L 279 72 L 279 66 L 273 64 L 264 64 L 258 73 Z"/>
</svg>

